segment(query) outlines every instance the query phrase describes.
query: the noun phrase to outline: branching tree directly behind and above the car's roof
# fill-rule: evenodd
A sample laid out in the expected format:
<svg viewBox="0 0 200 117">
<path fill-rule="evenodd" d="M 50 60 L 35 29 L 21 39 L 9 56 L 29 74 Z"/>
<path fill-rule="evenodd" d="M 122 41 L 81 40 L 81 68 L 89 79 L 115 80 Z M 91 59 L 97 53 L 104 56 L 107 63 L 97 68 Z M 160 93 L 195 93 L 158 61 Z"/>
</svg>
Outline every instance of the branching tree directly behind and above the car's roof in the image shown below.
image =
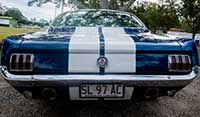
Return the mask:
<svg viewBox="0 0 200 117">
<path fill-rule="evenodd" d="M 73 4 L 79 8 L 93 9 L 114 9 L 127 11 L 136 0 L 29 0 L 28 6 L 37 4 L 41 6 L 47 2 L 55 3 L 58 6 Z"/>
</svg>

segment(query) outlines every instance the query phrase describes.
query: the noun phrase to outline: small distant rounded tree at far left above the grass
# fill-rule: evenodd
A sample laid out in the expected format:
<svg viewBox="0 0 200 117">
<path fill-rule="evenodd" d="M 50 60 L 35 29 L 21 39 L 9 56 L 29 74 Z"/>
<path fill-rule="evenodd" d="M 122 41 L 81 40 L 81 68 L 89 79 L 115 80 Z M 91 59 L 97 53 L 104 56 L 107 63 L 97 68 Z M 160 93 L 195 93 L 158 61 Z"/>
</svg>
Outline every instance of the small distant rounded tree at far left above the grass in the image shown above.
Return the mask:
<svg viewBox="0 0 200 117">
<path fill-rule="evenodd" d="M 22 12 L 17 8 L 9 8 L 5 13 L 5 16 L 13 17 L 18 22 L 27 20 L 27 18 L 22 14 Z"/>
</svg>

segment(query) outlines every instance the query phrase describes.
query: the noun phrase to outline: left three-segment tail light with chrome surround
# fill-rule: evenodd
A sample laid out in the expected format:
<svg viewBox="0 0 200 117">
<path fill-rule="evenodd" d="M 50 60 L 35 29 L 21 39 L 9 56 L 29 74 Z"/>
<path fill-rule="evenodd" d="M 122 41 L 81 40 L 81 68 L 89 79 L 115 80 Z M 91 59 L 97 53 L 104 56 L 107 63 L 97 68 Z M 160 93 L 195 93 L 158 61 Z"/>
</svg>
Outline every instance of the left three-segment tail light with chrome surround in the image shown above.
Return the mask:
<svg viewBox="0 0 200 117">
<path fill-rule="evenodd" d="M 10 56 L 10 71 L 33 71 L 33 59 L 33 54 L 12 54 Z"/>
</svg>

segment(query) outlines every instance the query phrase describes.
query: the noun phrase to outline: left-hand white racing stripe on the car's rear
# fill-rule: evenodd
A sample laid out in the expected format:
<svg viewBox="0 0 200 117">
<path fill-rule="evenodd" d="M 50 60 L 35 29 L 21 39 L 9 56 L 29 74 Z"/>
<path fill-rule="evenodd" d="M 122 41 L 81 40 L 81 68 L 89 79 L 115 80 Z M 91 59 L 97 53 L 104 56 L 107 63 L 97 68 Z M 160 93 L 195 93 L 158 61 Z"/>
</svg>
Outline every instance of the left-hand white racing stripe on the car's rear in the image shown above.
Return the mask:
<svg viewBox="0 0 200 117">
<path fill-rule="evenodd" d="M 77 27 L 69 44 L 69 73 L 99 73 L 98 27 Z"/>
</svg>

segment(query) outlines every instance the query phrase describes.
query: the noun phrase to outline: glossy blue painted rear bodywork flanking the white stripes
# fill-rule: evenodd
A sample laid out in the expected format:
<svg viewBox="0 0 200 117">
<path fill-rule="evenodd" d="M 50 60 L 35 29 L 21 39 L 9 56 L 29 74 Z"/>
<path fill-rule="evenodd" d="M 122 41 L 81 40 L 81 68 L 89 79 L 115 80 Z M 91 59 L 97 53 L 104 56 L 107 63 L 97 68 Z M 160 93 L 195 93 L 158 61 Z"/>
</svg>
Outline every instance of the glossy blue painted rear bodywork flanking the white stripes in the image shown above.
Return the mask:
<svg viewBox="0 0 200 117">
<path fill-rule="evenodd" d="M 197 48 L 193 40 L 162 40 L 138 36 L 145 29 L 124 28 L 136 43 L 136 74 L 171 74 L 168 72 L 169 54 L 188 54 L 193 65 L 198 64 Z M 34 71 L 31 74 L 68 74 L 68 48 L 75 27 L 49 28 L 49 33 L 24 39 L 23 35 L 4 40 L 1 64 L 8 66 L 12 53 L 33 53 Z M 104 37 L 99 28 L 100 55 L 104 56 Z M 94 63 L 96 64 L 96 63 Z M 100 70 L 104 73 L 103 70 Z M 13 74 L 30 74 L 11 72 Z"/>
</svg>

